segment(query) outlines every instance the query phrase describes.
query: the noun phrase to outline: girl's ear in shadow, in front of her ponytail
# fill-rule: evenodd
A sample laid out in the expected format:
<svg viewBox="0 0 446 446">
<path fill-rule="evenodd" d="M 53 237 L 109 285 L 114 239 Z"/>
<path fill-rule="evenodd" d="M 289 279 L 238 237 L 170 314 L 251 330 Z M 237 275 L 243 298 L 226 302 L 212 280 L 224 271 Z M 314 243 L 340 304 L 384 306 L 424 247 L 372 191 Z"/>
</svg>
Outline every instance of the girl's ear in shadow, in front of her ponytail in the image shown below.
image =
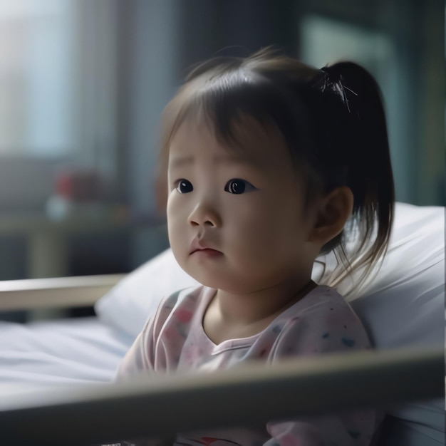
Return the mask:
<svg viewBox="0 0 446 446">
<path fill-rule="evenodd" d="M 353 193 L 350 187 L 338 187 L 321 198 L 316 209 L 316 219 L 311 231 L 311 242 L 323 246 L 341 234 L 353 209 Z"/>
</svg>

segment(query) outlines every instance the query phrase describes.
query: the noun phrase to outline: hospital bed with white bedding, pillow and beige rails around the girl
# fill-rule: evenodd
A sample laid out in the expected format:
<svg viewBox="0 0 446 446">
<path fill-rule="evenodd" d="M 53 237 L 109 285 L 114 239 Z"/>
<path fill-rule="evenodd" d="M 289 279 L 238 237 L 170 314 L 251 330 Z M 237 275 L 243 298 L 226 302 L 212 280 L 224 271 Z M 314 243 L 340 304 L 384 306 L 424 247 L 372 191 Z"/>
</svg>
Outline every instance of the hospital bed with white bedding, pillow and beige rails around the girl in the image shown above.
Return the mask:
<svg viewBox="0 0 446 446">
<path fill-rule="evenodd" d="M 102 444 L 373 406 L 387 413 L 379 445 L 444 445 L 445 209 L 398 203 L 380 270 L 361 289 L 339 274 L 330 255 L 313 271 L 336 283 L 375 351 L 113 385 L 161 297 L 196 284 L 170 249 L 125 276 L 0 282 L 2 311 L 92 305 L 96 313 L 0 322 L 0 444 Z"/>
</svg>

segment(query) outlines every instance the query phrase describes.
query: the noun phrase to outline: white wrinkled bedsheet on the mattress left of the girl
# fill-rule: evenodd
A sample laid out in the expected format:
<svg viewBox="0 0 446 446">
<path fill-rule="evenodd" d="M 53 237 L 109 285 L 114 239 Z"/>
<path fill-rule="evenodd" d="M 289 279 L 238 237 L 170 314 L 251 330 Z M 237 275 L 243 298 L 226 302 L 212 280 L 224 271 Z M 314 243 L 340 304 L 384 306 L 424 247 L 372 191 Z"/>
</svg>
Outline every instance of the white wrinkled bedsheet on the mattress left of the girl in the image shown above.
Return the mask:
<svg viewBox="0 0 446 446">
<path fill-rule="evenodd" d="M 94 316 L 0 322 L 0 395 L 110 382 L 132 342 Z"/>
</svg>

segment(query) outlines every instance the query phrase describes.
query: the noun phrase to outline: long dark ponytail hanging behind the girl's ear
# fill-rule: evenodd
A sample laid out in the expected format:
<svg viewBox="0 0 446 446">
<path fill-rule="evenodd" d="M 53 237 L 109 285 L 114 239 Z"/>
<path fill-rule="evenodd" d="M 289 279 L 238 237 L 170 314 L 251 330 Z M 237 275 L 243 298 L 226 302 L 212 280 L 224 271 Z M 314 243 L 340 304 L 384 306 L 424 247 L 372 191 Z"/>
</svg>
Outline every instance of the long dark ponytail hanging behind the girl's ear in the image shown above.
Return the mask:
<svg viewBox="0 0 446 446">
<path fill-rule="evenodd" d="M 321 71 L 316 88 L 323 97 L 328 97 L 328 110 L 335 113 L 326 115 L 328 127 L 333 130 L 326 137 L 334 136 L 328 147 L 325 145 L 333 150 L 327 159 L 337 155 L 341 160 L 343 166 L 339 167 L 346 172 L 345 185 L 354 197 L 351 223 L 347 227 L 351 239 L 344 234 L 343 243 L 338 244 L 340 240 L 334 239 L 325 251 L 338 244 L 336 251 L 343 263 L 348 264 L 347 273 L 353 266 L 356 269 L 366 265 L 363 281 L 378 259 L 383 258 L 393 223 L 395 192 L 382 94 L 370 73 L 356 63 L 340 62 Z"/>
</svg>

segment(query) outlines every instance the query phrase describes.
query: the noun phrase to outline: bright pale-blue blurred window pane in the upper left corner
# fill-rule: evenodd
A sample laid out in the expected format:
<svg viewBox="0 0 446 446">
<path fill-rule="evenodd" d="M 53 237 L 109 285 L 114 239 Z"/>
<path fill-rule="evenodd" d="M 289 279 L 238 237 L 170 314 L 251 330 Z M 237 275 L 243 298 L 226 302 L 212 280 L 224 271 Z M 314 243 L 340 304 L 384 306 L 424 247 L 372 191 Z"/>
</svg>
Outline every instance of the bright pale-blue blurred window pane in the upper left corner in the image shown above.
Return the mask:
<svg viewBox="0 0 446 446">
<path fill-rule="evenodd" d="M 73 1 L 0 4 L 0 154 L 75 150 Z"/>
</svg>

